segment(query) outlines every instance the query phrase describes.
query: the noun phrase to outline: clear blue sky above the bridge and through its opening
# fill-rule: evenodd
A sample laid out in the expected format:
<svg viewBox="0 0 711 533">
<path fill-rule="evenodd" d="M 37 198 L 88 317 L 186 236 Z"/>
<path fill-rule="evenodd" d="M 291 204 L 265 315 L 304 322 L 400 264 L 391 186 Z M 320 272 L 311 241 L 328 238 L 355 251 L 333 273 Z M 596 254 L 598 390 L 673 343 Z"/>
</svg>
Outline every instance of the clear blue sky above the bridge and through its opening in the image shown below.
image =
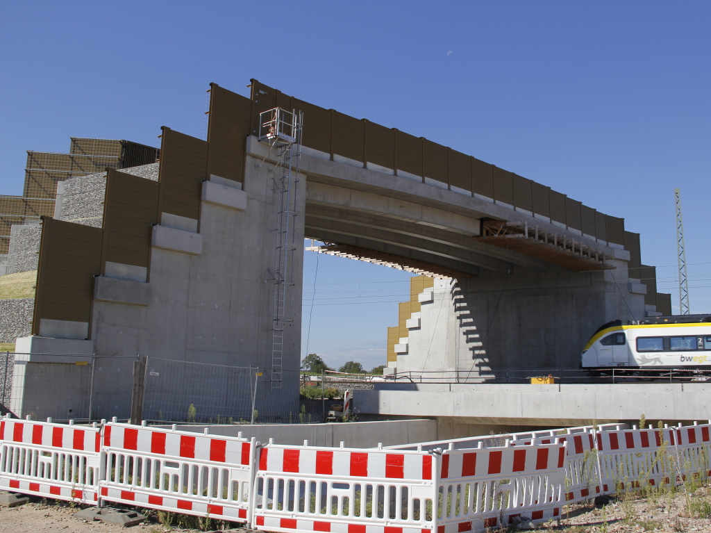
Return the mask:
<svg viewBox="0 0 711 533">
<path fill-rule="evenodd" d="M 710 45 L 707 1 L 2 0 L 0 194 L 21 194 L 26 150 L 70 136 L 203 137 L 208 83 L 247 95 L 257 78 L 624 217 L 675 307 L 679 187 L 691 310 L 711 312 Z M 331 300 L 307 335 L 306 255 L 304 353 L 309 337 L 333 365 L 383 362 L 409 276 L 321 256 Z"/>
</svg>

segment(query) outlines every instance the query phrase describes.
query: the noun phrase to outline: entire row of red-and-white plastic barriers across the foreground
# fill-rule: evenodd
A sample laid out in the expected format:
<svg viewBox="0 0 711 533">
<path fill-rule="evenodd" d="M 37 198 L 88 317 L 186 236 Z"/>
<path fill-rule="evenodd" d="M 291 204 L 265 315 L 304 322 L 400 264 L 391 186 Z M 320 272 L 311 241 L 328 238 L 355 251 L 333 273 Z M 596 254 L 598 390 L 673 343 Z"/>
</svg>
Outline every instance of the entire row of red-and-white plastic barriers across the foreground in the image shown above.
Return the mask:
<svg viewBox="0 0 711 533">
<path fill-rule="evenodd" d="M 461 533 L 506 527 L 517 517 L 555 519 L 562 505 L 599 493 L 711 475 L 711 422 L 503 437 L 506 445 L 470 438 L 447 450 L 434 443 L 429 450 L 260 447 L 115 422 L 97 428 L 2 418 L 0 487 L 284 533 Z"/>
</svg>

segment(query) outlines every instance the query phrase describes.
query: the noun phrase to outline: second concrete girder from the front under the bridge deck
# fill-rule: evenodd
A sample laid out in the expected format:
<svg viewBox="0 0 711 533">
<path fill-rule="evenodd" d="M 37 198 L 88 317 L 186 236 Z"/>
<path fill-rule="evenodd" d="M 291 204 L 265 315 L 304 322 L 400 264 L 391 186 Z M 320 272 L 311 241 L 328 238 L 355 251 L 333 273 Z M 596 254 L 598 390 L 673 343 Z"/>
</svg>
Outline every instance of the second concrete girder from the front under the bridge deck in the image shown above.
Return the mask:
<svg viewBox="0 0 711 533">
<path fill-rule="evenodd" d="M 350 211 L 321 204 L 311 204 L 311 202 L 306 203 L 306 216 L 332 221 L 348 221 L 355 226 L 363 226 L 364 228 L 373 228 L 375 230 L 385 228 L 388 231 L 392 231 L 392 233 L 399 233 L 403 236 L 422 238 L 433 243 L 454 246 L 469 253 L 481 255 L 480 266 L 489 270 L 508 271 L 510 270 L 510 263 L 541 272 L 549 269 L 549 265 L 545 261 L 511 251 L 507 252 L 495 246 L 481 246 L 471 236 L 423 226 L 419 223 L 394 220 L 386 216 L 378 216 L 363 211 Z M 488 264 L 491 264 L 491 267 L 486 266 Z"/>
</svg>

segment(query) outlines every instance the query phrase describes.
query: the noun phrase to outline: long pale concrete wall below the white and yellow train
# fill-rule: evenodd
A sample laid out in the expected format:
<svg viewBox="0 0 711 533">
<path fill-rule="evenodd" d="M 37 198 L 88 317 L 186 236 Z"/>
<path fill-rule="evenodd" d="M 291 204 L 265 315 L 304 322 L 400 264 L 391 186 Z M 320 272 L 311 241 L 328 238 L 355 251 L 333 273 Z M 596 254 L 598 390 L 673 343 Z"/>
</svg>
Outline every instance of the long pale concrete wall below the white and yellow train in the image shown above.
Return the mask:
<svg viewBox="0 0 711 533">
<path fill-rule="evenodd" d="M 358 391 L 354 408 L 380 416 L 463 423 L 577 426 L 593 421 L 707 420 L 711 383 L 451 384 Z"/>
</svg>

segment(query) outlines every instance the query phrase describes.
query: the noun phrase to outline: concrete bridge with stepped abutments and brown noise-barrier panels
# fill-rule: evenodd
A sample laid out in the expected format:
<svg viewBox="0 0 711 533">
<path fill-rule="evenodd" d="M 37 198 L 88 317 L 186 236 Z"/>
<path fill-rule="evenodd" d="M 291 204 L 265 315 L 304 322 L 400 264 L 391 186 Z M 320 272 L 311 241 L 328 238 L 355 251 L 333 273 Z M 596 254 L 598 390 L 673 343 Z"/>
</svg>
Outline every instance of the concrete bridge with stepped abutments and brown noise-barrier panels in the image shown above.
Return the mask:
<svg viewBox="0 0 711 533">
<path fill-rule="evenodd" d="M 159 163 L 67 181 L 60 219 L 45 218 L 41 237 L 34 234 L 33 336 L 18 347 L 47 367 L 18 369 L 18 413 L 61 418 L 28 407 L 33 390 L 55 376 L 38 357 L 48 353 L 273 368 L 261 394 L 280 391 L 289 396 L 285 412 L 295 412 L 303 238 L 327 243 L 324 253 L 437 278 L 413 285 L 388 332 L 387 364 L 398 371 L 496 377 L 512 368 L 577 368 L 600 324 L 670 312 L 622 218 L 423 137 L 257 80 L 251 87 L 246 98 L 211 85 L 207 141 L 164 127 Z M 278 357 L 277 150 L 257 139 L 260 112 L 275 106 L 304 113 L 293 285 Z M 132 379 L 120 366 L 92 371 L 94 389 L 105 391 L 92 417 L 127 416 Z M 60 410 L 68 410 L 72 387 L 84 385 L 73 381 L 75 369 L 62 371 Z M 199 392 L 160 386 L 180 386 L 187 405 Z"/>
</svg>

